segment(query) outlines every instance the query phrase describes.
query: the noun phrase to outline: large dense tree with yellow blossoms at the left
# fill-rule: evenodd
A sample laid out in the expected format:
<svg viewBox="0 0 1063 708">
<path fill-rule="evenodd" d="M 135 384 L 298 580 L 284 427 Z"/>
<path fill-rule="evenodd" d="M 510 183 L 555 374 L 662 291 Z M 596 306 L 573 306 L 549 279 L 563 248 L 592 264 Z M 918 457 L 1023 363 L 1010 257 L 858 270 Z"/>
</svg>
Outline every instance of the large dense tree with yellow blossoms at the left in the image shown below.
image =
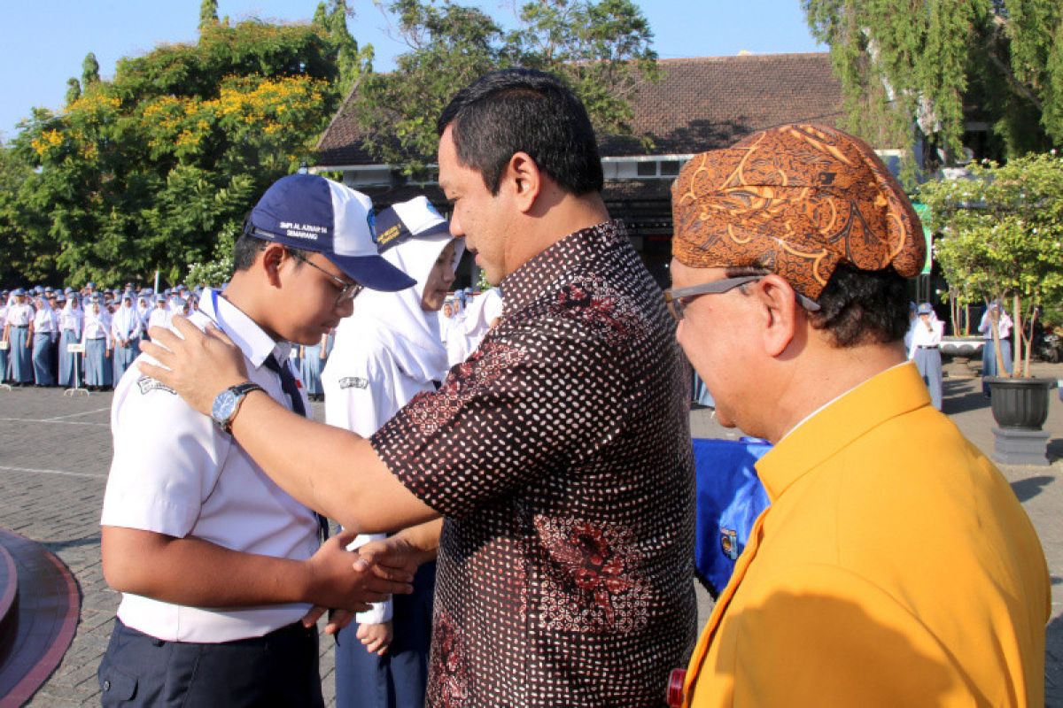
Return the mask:
<svg viewBox="0 0 1063 708">
<path fill-rule="evenodd" d="M 0 155 L 0 261 L 107 286 L 156 269 L 176 282 L 227 256 L 254 198 L 309 157 L 335 110 L 336 54 L 319 28 L 250 20 L 121 59 L 114 81 L 86 58 L 80 94 L 35 109 Z"/>
</svg>

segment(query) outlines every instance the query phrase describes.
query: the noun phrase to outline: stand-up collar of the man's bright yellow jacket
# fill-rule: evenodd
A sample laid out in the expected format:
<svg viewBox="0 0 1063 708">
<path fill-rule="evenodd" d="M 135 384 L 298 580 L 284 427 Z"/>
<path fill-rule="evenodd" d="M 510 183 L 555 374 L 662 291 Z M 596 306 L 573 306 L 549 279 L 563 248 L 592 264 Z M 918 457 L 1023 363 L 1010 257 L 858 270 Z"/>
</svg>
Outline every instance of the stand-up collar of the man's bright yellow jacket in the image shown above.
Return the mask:
<svg viewBox="0 0 1063 708">
<path fill-rule="evenodd" d="M 792 429 L 757 463 L 774 502 L 808 470 L 890 418 L 930 404 L 912 362 L 892 366 L 827 403 Z"/>
</svg>

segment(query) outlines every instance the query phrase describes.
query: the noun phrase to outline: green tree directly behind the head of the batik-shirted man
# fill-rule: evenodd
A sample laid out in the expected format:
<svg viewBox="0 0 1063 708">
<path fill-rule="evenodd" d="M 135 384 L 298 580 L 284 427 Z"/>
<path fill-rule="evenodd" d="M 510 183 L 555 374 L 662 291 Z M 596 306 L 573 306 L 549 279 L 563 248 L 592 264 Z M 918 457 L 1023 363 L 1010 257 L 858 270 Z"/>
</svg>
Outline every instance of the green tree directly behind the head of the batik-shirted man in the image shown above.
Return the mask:
<svg viewBox="0 0 1063 708">
<path fill-rule="evenodd" d="M 386 4 L 410 51 L 396 68 L 372 74 L 353 97 L 366 145 L 379 161 L 418 174 L 435 161 L 436 118 L 477 76 L 524 66 L 562 76 L 600 133 L 630 134 L 630 96 L 657 77 L 653 33 L 630 0 L 535 0 L 516 28 L 451 0 Z"/>
</svg>

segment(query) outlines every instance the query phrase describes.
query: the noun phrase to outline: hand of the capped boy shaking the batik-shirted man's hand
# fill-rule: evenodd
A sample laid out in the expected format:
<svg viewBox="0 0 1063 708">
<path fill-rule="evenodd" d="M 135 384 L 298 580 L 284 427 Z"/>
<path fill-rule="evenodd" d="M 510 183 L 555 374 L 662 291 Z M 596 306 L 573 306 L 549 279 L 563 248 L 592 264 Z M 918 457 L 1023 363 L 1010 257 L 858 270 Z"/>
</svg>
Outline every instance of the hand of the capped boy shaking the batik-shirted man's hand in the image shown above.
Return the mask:
<svg viewBox="0 0 1063 708">
<path fill-rule="evenodd" d="M 410 585 L 412 572 L 402 568 L 374 567 L 359 559 L 357 553 L 344 550 L 355 535 L 348 532 L 333 536 L 306 560 L 309 575 L 307 602 L 360 612 L 369 609 L 369 603 L 383 602 L 390 594 L 414 591 Z"/>
</svg>

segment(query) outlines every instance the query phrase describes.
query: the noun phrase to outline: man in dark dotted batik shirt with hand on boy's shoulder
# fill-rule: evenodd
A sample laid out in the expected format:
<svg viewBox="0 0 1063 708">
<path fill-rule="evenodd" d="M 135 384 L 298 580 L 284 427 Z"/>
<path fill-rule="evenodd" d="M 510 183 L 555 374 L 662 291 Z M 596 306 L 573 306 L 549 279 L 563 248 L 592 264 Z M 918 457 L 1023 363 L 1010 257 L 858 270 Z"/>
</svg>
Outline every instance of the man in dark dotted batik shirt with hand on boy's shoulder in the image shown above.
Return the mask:
<svg viewBox="0 0 1063 708">
<path fill-rule="evenodd" d="M 451 230 L 501 284 L 501 324 L 369 441 L 255 394 L 233 434 L 345 526 L 406 529 L 364 555 L 438 546 L 429 705 L 660 705 L 696 616 L 687 375 L 660 292 L 557 79 L 488 74 L 439 132 Z M 174 322 L 186 340 L 161 333 L 173 370 L 153 375 L 207 409 L 239 360 Z"/>
</svg>

